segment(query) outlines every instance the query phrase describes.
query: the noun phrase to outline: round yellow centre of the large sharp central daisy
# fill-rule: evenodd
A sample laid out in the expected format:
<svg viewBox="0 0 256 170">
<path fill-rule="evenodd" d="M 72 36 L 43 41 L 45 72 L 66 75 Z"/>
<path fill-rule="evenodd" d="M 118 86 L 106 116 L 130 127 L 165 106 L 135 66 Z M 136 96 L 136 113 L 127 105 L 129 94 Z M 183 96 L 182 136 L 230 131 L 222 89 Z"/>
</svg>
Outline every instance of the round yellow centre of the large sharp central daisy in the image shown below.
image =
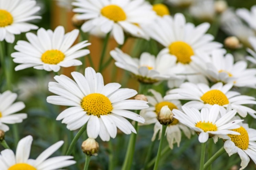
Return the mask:
<svg viewBox="0 0 256 170">
<path fill-rule="evenodd" d="M 85 96 L 81 101 L 81 107 L 88 115 L 107 115 L 113 110 L 111 101 L 106 96 L 93 93 Z"/>
</svg>

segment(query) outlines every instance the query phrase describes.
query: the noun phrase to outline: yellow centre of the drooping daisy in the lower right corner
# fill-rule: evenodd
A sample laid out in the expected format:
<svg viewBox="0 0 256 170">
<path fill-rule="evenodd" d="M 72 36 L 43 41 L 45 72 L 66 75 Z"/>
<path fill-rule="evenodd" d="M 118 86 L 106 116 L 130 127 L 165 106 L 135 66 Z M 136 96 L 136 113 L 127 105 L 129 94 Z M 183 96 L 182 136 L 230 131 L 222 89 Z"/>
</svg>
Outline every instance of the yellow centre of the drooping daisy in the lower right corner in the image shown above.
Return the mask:
<svg viewBox="0 0 256 170">
<path fill-rule="evenodd" d="M 239 132 L 241 135 L 228 134 L 228 136 L 231 138 L 231 141 L 234 142 L 237 147 L 241 148 L 242 150 L 246 150 L 249 146 L 249 135 L 247 130 L 245 130 L 243 127 L 232 130 Z"/>
</svg>

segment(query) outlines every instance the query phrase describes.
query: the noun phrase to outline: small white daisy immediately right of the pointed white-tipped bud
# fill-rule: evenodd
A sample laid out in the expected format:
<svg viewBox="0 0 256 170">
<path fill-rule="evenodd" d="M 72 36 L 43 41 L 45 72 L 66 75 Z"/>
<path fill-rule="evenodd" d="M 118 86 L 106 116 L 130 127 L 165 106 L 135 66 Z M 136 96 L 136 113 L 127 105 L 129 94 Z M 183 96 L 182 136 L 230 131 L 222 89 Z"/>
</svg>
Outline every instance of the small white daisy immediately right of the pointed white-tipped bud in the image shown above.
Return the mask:
<svg viewBox="0 0 256 170">
<path fill-rule="evenodd" d="M 182 107 L 182 110 L 184 112 L 173 109 L 174 118 L 198 132 L 198 140 L 201 143 L 205 143 L 209 137 L 212 137 L 214 142 L 217 142 L 218 135 L 239 134 L 231 129 L 239 128 L 240 126 L 236 124 L 243 121 L 235 120 L 228 123 L 235 116 L 236 110 L 232 110 L 218 118 L 220 112 L 217 104 L 213 105 L 210 109 L 203 108 L 201 113 L 195 108 L 185 106 Z"/>
</svg>

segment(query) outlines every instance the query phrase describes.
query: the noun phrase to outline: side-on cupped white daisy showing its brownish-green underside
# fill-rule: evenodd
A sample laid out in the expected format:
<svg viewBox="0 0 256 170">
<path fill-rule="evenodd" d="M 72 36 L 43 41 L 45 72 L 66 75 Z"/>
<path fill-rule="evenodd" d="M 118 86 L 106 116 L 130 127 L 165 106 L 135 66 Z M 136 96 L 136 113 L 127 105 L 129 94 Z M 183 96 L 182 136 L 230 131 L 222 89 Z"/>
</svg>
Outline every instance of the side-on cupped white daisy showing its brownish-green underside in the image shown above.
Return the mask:
<svg viewBox="0 0 256 170">
<path fill-rule="evenodd" d="M 110 55 L 116 61 L 117 67 L 133 73 L 139 82 L 155 83 L 171 79 L 171 77 L 175 79 L 176 58 L 168 54 L 155 57 L 145 52 L 137 59 L 123 53 L 121 49 L 115 48 Z"/>
</svg>

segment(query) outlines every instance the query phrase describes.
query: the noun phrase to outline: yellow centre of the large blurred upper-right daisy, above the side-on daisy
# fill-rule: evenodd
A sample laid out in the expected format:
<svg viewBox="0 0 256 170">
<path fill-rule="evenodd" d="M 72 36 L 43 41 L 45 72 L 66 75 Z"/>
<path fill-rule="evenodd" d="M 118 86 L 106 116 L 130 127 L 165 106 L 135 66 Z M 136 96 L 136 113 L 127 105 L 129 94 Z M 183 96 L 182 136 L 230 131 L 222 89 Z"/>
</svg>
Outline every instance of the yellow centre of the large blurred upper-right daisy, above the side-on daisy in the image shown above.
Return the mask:
<svg viewBox="0 0 256 170">
<path fill-rule="evenodd" d="M 177 62 L 181 62 L 183 64 L 190 63 L 191 56 L 194 55 L 192 47 L 182 41 L 176 41 L 169 45 L 169 52 L 176 56 Z"/>
</svg>

